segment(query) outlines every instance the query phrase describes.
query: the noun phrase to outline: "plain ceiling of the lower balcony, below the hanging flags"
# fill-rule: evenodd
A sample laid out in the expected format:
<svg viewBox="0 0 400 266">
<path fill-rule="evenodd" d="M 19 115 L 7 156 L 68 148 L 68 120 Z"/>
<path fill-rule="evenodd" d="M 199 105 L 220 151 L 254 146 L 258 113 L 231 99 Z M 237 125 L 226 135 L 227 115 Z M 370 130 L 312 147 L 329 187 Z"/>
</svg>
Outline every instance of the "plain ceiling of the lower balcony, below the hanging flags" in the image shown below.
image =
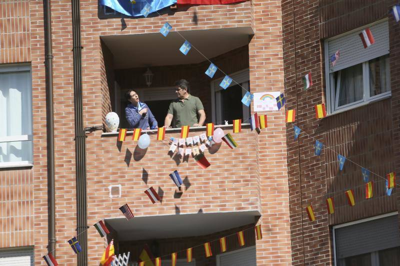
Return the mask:
<svg viewBox="0 0 400 266">
<path fill-rule="evenodd" d="M 119 241 L 203 236 L 254 223 L 258 211 L 105 219 Z"/>
</svg>

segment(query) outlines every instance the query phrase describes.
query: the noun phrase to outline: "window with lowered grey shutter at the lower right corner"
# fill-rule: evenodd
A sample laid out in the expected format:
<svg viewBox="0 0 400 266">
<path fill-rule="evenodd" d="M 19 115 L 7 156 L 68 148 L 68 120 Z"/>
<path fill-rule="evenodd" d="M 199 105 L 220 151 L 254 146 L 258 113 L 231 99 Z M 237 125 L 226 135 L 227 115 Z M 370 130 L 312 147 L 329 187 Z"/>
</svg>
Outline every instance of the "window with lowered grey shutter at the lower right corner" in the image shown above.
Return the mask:
<svg viewBox="0 0 400 266">
<path fill-rule="evenodd" d="M 335 266 L 400 265 L 397 213 L 333 227 Z"/>
</svg>

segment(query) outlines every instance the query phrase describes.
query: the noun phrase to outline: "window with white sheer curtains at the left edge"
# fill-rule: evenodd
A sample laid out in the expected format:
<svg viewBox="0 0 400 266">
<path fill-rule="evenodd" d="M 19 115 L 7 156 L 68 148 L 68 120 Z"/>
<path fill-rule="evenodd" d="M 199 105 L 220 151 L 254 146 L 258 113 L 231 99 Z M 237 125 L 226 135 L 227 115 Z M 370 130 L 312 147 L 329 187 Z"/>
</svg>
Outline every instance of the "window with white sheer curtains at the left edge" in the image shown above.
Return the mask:
<svg viewBox="0 0 400 266">
<path fill-rule="evenodd" d="M 32 163 L 29 66 L 0 67 L 0 167 Z"/>
</svg>

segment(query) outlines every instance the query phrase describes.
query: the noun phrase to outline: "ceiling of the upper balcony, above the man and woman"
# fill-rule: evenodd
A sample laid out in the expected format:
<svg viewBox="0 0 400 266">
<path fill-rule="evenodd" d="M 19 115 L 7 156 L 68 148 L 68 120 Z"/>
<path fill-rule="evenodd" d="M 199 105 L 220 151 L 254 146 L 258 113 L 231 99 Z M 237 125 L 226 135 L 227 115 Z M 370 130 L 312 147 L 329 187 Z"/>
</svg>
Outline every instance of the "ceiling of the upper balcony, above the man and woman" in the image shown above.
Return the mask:
<svg viewBox="0 0 400 266">
<path fill-rule="evenodd" d="M 254 34 L 251 27 L 183 30 L 184 36 L 207 58 L 233 50 L 249 42 Z M 179 48 L 183 38 L 174 31 L 164 37 L 161 33 L 105 35 L 101 39 L 113 54 L 115 69 L 199 63 L 205 58 L 193 46 L 187 55 Z"/>
</svg>

